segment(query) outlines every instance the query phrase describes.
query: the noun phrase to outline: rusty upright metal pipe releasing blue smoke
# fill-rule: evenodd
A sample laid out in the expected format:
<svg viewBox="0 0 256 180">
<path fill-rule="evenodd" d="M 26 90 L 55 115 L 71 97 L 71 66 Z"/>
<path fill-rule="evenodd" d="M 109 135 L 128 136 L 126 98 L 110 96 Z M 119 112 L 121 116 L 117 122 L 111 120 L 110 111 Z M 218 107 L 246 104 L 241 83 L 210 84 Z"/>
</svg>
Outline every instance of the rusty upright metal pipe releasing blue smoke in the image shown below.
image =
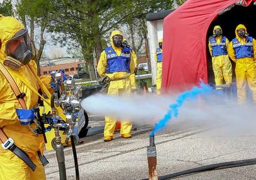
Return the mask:
<svg viewBox="0 0 256 180">
<path fill-rule="evenodd" d="M 149 180 L 157 180 L 156 145 L 154 134 L 149 135 L 149 146 L 147 147 L 147 163 L 149 164 Z"/>
</svg>

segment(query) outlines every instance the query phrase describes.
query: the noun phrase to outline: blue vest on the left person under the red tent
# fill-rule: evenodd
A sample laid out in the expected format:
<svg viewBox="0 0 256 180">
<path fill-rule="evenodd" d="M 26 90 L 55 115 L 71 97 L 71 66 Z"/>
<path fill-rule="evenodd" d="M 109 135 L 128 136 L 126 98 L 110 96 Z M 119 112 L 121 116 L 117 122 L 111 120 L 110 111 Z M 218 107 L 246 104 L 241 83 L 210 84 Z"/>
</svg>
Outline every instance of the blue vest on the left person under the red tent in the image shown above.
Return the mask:
<svg viewBox="0 0 256 180">
<path fill-rule="evenodd" d="M 222 36 L 222 39 L 220 41 L 220 44 L 218 45 L 216 42 L 215 37 L 211 36 L 209 39 L 212 47 L 212 55 L 218 56 L 218 55 L 226 55 L 227 52 L 227 46 L 226 46 L 226 37 Z"/>
</svg>

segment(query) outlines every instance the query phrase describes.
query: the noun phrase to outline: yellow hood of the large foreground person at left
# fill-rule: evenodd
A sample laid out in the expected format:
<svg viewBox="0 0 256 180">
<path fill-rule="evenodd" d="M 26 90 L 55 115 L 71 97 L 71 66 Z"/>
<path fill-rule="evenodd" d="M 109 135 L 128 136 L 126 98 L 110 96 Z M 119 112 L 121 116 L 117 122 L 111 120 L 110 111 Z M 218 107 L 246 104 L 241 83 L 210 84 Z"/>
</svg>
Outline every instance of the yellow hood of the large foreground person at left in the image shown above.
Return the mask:
<svg viewBox="0 0 256 180">
<path fill-rule="evenodd" d="M 1 15 L 0 15 L 1 16 Z M 1 16 L 0 17 L 0 61 L 6 57 L 6 43 L 20 30 L 25 29 L 24 26 L 14 17 Z"/>
</svg>

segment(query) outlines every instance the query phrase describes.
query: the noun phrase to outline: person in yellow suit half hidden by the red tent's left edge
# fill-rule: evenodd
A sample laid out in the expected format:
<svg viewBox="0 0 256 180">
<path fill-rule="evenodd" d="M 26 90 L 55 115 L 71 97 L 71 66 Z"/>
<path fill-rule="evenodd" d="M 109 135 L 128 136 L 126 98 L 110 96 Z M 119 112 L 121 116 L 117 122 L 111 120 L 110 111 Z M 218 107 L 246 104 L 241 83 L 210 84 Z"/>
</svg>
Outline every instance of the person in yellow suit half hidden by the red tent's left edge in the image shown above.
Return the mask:
<svg viewBox="0 0 256 180">
<path fill-rule="evenodd" d="M 163 39 L 158 40 L 158 48 L 156 48 L 156 93 L 160 94 L 162 86 L 162 53 L 163 53 Z"/>
</svg>

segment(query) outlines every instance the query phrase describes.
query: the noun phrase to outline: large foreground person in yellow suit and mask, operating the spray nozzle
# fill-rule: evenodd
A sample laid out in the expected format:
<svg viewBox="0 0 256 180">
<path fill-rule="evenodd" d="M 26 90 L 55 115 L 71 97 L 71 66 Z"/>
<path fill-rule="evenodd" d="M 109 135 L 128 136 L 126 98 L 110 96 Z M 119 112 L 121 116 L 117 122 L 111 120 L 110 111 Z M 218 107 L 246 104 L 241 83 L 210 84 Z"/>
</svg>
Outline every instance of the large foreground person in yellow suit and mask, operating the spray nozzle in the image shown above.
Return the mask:
<svg viewBox="0 0 256 180">
<path fill-rule="evenodd" d="M 46 179 L 43 135 L 28 126 L 39 101 L 30 89 L 39 89 L 35 52 L 24 26 L 0 15 L 0 179 Z M 50 76 L 43 79 L 50 85 Z"/>
</svg>

